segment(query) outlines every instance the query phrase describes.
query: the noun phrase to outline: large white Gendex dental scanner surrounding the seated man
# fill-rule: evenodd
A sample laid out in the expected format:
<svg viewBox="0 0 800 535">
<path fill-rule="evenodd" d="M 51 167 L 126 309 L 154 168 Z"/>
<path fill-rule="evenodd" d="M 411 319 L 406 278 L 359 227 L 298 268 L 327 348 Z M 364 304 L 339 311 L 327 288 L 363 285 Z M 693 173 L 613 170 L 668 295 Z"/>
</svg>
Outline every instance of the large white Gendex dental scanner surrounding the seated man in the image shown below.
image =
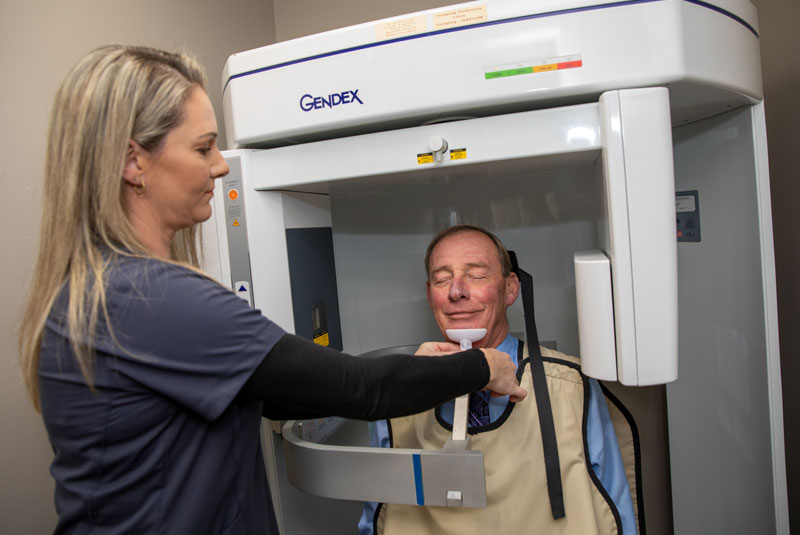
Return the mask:
<svg viewBox="0 0 800 535">
<path fill-rule="evenodd" d="M 206 267 L 361 354 L 441 339 L 425 248 L 484 226 L 533 275 L 543 343 L 668 383 L 675 532 L 788 533 L 758 36 L 747 0 L 487 0 L 234 54 Z M 355 500 L 420 489 L 485 503 L 468 444 L 367 435 L 264 426 L 281 533 L 352 533 Z"/>
</svg>

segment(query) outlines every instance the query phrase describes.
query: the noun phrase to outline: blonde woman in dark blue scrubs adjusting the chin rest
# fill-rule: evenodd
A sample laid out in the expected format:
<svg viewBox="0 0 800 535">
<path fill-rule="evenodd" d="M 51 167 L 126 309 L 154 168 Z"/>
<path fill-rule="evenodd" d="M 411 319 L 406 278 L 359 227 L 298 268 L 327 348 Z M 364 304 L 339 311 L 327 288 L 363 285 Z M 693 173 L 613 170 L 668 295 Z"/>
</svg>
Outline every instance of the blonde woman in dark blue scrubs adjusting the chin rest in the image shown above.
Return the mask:
<svg viewBox="0 0 800 535">
<path fill-rule="evenodd" d="M 108 46 L 55 98 L 20 352 L 55 452 L 58 533 L 277 533 L 262 414 L 378 419 L 483 387 L 526 395 L 504 353 L 351 357 L 200 272 L 194 226 L 228 172 L 204 85 L 185 55 Z"/>
</svg>

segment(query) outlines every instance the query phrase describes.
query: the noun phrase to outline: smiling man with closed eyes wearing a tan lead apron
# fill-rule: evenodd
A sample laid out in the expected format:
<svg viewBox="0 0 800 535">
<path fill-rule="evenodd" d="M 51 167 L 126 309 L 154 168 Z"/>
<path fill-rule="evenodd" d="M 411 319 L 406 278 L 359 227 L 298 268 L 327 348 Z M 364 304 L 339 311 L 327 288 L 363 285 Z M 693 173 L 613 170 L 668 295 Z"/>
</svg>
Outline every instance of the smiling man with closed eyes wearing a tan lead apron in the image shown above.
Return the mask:
<svg viewBox="0 0 800 535">
<path fill-rule="evenodd" d="M 532 391 L 527 348 L 509 334 L 506 309 L 516 301 L 520 283 L 502 242 L 479 227 L 451 227 L 431 241 L 425 270 L 428 303 L 442 334 L 446 329 L 485 328 L 486 336 L 473 347 L 496 347 L 511 355 L 522 386 Z M 600 385 L 581 374 L 578 359 L 541 350 L 566 516 L 554 519 L 551 512 L 534 397 L 515 404 L 483 391 L 470 396 L 468 432 L 471 449 L 484 454 L 487 507 L 367 503 L 359 522 L 361 535 L 637 532 L 625 466 Z M 453 406 L 451 401 L 425 413 L 375 422 L 373 445 L 439 449 L 451 437 Z"/>
</svg>

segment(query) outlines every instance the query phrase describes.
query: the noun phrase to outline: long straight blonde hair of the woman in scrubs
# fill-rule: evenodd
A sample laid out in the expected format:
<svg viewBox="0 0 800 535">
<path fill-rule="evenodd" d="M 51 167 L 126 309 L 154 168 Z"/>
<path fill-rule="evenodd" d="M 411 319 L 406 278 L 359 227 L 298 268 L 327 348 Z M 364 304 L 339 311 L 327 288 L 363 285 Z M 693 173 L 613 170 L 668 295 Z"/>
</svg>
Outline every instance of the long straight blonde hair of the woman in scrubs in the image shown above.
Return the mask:
<svg viewBox="0 0 800 535">
<path fill-rule="evenodd" d="M 47 138 L 39 255 L 19 337 L 22 373 L 37 410 L 42 339 L 64 286 L 70 346 L 94 390 L 92 340 L 100 314 L 111 331 L 106 268 L 117 255 L 153 256 L 126 217 L 122 173 L 129 141 L 158 151 L 182 121 L 192 90 L 205 84 L 202 68 L 185 54 L 111 45 L 87 54 L 58 89 Z M 172 255 L 177 263 L 197 266 L 194 227 L 176 233 Z"/>
</svg>

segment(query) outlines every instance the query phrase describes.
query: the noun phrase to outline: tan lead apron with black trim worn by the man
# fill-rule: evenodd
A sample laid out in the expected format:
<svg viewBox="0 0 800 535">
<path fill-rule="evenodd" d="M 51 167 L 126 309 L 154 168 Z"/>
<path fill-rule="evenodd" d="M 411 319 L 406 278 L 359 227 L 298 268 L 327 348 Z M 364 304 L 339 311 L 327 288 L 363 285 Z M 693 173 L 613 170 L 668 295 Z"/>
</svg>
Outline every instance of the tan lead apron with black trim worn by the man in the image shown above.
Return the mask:
<svg viewBox="0 0 800 535">
<path fill-rule="evenodd" d="M 528 396 L 523 403 L 509 404 L 510 410 L 486 426 L 488 430 L 475 434 L 470 430 L 471 448 L 484 455 L 485 509 L 382 504 L 376 523 L 378 534 L 606 535 L 621 531 L 616 507 L 592 471 L 585 451 L 584 406 L 588 401 L 588 383 L 577 369 L 578 359 L 547 348 L 542 348 L 542 355 L 556 426 L 566 517 L 553 519 L 536 400 Z M 521 364 L 520 384 L 530 392 L 528 363 L 526 358 Z M 389 426 L 392 446 L 397 448 L 439 449 L 451 435 L 450 430 L 436 421 L 434 410 L 392 419 Z M 626 446 L 633 446 L 632 440 L 625 442 Z M 631 458 L 632 453 L 623 451 L 623 462 Z M 635 471 L 626 472 L 637 510 Z"/>
</svg>

